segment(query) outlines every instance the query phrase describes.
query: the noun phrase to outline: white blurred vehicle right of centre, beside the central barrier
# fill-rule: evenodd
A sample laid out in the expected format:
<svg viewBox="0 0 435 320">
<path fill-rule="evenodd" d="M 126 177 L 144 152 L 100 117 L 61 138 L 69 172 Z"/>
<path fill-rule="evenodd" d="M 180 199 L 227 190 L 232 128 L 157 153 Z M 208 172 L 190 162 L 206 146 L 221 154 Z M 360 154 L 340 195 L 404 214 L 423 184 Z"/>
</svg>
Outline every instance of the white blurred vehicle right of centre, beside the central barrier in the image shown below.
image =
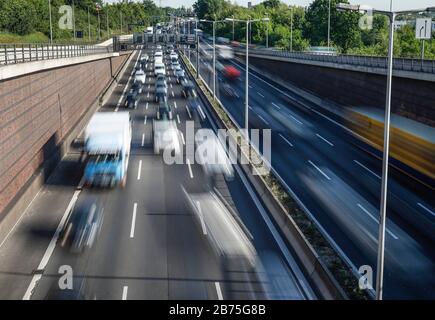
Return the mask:
<svg viewBox="0 0 435 320">
<path fill-rule="evenodd" d="M 200 164 L 208 177 L 223 174 L 225 179 L 234 178 L 234 169 L 227 152 L 216 135 L 195 134 L 195 162 Z M 206 131 L 204 131 L 206 132 Z"/>
</svg>

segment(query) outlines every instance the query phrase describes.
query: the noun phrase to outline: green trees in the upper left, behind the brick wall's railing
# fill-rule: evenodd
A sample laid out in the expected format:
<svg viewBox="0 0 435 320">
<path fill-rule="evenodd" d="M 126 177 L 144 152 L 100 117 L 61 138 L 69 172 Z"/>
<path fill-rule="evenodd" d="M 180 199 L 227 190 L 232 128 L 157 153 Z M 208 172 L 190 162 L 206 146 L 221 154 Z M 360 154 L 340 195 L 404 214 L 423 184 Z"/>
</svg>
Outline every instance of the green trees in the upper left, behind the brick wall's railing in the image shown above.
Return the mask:
<svg viewBox="0 0 435 320">
<path fill-rule="evenodd" d="M 83 32 L 84 41 L 89 39 L 89 35 L 92 41 L 95 41 L 99 34 L 101 38 L 108 38 L 121 32 L 143 30 L 146 26 L 166 19 L 167 14 L 174 11 L 171 8 L 159 8 L 152 0 L 114 4 L 107 4 L 102 0 L 51 0 L 53 40 L 56 42 L 70 41 L 73 38 L 73 30 L 59 27 L 58 21 L 64 15 L 62 12 L 59 13 L 59 8 L 63 5 L 74 5 L 75 29 Z M 97 10 L 97 5 L 100 10 Z M 49 37 L 49 18 L 48 0 L 0 1 L 0 33 L 25 36 L 39 32 Z M 137 25 L 138 22 L 143 22 L 143 26 Z"/>
</svg>

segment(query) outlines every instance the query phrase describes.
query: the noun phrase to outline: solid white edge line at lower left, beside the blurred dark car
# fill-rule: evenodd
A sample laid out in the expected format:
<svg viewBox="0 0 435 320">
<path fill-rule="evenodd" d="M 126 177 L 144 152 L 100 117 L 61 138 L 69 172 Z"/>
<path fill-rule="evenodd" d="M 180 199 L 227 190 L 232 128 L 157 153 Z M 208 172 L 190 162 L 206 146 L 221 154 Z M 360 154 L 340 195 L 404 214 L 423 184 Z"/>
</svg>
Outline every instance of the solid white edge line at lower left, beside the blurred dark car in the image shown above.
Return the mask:
<svg viewBox="0 0 435 320">
<path fill-rule="evenodd" d="M 44 270 L 45 266 L 47 265 L 48 261 L 50 260 L 50 257 L 53 254 L 54 249 L 56 248 L 56 242 L 59 238 L 60 232 L 62 231 L 62 229 L 65 225 L 66 219 L 68 218 L 68 214 L 72 210 L 72 208 L 74 207 L 74 205 L 79 197 L 80 192 L 81 192 L 81 190 L 74 191 L 74 194 L 73 194 L 67 208 L 65 209 L 65 212 L 63 213 L 62 219 L 60 220 L 59 225 L 57 226 L 57 229 L 54 232 L 54 235 L 51 238 L 51 241 L 48 244 L 47 249 L 45 250 L 45 253 L 41 259 L 41 262 L 38 265 L 38 268 L 37 268 L 38 271 Z M 23 300 L 30 300 L 30 297 L 32 296 L 33 291 L 34 291 L 38 281 L 41 278 L 42 278 L 42 273 L 35 274 L 32 277 L 32 280 L 30 281 L 30 284 L 27 287 L 26 293 L 23 296 Z"/>
</svg>

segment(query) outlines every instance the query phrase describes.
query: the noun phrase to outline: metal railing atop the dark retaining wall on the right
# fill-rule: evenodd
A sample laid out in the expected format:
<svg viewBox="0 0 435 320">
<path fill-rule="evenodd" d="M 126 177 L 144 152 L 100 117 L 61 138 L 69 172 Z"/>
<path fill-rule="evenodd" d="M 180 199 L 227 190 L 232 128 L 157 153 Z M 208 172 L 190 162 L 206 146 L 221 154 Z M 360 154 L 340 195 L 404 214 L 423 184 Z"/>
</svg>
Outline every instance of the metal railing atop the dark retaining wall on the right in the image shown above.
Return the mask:
<svg viewBox="0 0 435 320">
<path fill-rule="evenodd" d="M 236 52 L 245 53 L 245 49 L 236 48 Z M 275 56 L 305 61 L 347 64 L 359 67 L 387 68 L 386 57 L 356 56 L 356 55 L 326 55 L 315 53 L 289 52 L 285 50 L 249 49 L 250 54 Z M 435 60 L 421 60 L 408 58 L 394 58 L 394 70 L 425 72 L 435 74 Z"/>
</svg>

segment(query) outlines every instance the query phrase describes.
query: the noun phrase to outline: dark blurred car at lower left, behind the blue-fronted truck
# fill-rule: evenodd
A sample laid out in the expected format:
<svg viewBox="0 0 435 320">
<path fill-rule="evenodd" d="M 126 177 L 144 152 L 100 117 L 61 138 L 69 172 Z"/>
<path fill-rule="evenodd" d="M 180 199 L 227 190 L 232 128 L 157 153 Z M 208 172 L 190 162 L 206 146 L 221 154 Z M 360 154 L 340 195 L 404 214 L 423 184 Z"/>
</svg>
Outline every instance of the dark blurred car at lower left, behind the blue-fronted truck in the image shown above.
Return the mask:
<svg viewBox="0 0 435 320">
<path fill-rule="evenodd" d="M 103 206 L 96 197 L 88 198 L 74 207 L 62 232 L 62 246 L 73 253 L 92 248 L 103 224 Z"/>
</svg>

